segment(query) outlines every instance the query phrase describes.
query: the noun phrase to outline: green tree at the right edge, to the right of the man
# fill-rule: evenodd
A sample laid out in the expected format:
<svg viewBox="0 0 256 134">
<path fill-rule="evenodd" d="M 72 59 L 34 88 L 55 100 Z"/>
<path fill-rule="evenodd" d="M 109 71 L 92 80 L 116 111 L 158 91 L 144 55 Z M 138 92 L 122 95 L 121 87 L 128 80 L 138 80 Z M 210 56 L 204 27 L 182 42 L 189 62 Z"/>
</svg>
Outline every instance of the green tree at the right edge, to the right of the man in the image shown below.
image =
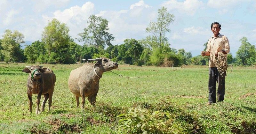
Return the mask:
<svg viewBox="0 0 256 134">
<path fill-rule="evenodd" d="M 241 38 L 240 41 L 241 46 L 238 48 L 238 51 L 236 52 L 236 62 L 243 65 L 248 65 L 247 59 L 256 56 L 255 46 L 251 45 L 251 43 L 248 42 L 246 37 Z"/>
</svg>

